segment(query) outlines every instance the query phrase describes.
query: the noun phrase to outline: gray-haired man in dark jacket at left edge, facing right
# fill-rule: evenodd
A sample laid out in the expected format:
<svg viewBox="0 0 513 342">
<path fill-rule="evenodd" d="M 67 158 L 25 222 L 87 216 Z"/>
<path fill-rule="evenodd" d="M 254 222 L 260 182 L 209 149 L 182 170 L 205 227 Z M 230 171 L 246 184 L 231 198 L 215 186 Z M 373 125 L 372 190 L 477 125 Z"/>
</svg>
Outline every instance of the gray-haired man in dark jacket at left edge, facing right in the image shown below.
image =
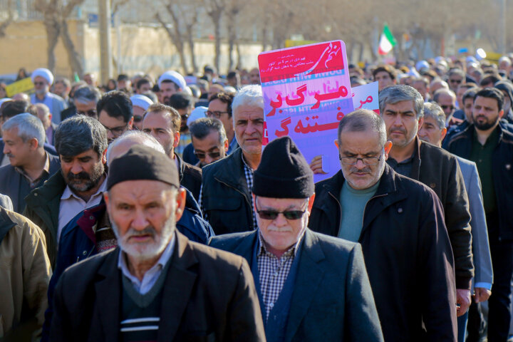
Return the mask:
<svg viewBox="0 0 513 342">
<path fill-rule="evenodd" d="M 41 120 L 29 113 L 16 115 L 2 125 L 4 154 L 10 165 L 0 168 L 0 193 L 11 197 L 14 211 L 25 209 L 25 197 L 60 170 L 61 162 L 43 148 Z"/>
</svg>

